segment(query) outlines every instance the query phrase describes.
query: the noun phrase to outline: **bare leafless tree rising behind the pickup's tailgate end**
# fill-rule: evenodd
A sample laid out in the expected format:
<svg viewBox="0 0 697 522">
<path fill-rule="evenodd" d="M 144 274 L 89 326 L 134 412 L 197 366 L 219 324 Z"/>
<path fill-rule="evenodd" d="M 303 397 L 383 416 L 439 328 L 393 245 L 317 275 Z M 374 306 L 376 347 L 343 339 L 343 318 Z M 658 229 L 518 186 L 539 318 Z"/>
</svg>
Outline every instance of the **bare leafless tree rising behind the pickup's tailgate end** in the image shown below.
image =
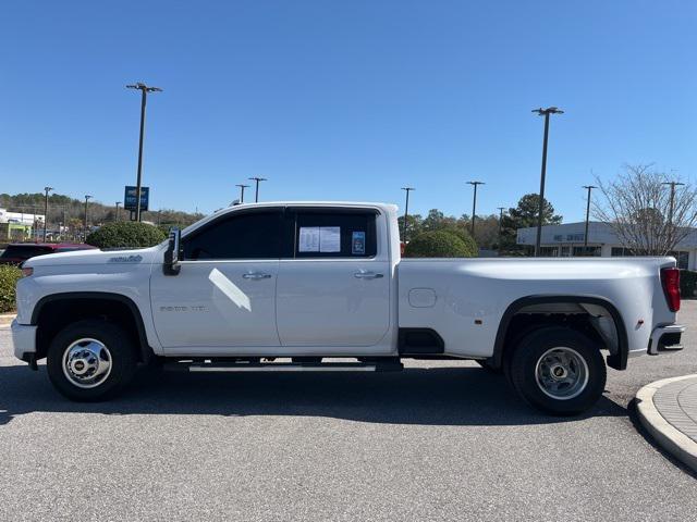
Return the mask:
<svg viewBox="0 0 697 522">
<path fill-rule="evenodd" d="M 685 184 L 672 195 L 670 181 L 651 164 L 624 165 L 608 183 L 596 177 L 601 198 L 594 201 L 594 216 L 635 256 L 665 256 L 697 222 L 697 190 Z"/>
</svg>

